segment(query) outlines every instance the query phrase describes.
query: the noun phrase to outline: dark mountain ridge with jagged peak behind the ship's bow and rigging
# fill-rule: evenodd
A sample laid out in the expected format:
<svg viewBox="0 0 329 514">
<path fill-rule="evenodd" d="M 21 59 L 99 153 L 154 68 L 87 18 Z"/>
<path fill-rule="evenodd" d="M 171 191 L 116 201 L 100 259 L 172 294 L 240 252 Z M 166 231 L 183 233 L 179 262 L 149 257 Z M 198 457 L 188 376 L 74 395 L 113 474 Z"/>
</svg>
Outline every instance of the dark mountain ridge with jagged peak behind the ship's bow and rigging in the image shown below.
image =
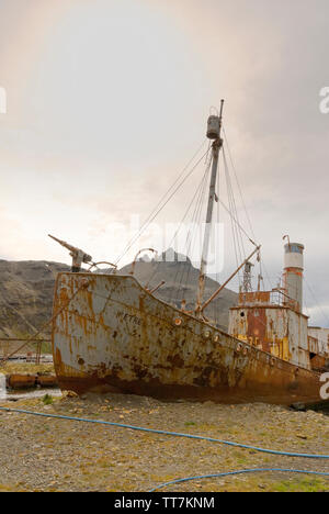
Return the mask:
<svg viewBox="0 0 329 514">
<path fill-rule="evenodd" d="M 118 270 L 128 275 L 132 264 Z M 70 271 L 70 267 L 48 260 L 0 260 L 0 337 L 26 337 L 37 332 L 52 317 L 53 294 L 56 275 Z M 135 265 L 134 276 L 149 289 L 166 282 L 155 295 L 180 308 L 186 301 L 186 309 L 195 306 L 198 270 L 188 258 L 185 261 L 145 261 Z M 186 283 L 183 283 L 184 280 Z M 209 277 L 205 281 L 206 300 L 218 288 Z M 206 316 L 227 329 L 228 310 L 236 304 L 237 293 L 225 289 L 209 308 Z"/>
</svg>

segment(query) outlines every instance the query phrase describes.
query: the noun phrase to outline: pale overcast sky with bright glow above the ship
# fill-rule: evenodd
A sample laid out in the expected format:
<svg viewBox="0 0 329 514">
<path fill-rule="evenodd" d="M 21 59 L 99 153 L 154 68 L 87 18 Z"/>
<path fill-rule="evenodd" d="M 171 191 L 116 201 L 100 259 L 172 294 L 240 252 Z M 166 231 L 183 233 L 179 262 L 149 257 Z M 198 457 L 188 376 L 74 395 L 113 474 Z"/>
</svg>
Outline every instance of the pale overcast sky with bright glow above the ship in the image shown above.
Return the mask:
<svg viewBox="0 0 329 514">
<path fill-rule="evenodd" d="M 273 286 L 288 234 L 306 247 L 305 312 L 329 326 L 328 19 L 328 0 L 0 0 L 0 257 L 68 262 L 53 233 L 115 260 L 113 224 L 149 214 L 225 98 Z M 160 225 L 181 220 L 201 176 Z"/>
</svg>

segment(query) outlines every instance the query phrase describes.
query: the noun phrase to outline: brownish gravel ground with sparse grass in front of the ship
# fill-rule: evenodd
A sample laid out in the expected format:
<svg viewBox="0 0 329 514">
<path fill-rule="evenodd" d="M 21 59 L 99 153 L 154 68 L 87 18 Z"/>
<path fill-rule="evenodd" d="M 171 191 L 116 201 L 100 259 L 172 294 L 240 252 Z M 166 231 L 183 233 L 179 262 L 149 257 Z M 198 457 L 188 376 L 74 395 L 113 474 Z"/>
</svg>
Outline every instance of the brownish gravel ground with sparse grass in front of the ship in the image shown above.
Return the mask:
<svg viewBox="0 0 329 514">
<path fill-rule="evenodd" d="M 277 450 L 329 454 L 329 417 L 264 404 L 161 403 L 113 394 L 1 406 L 206 435 Z M 149 491 L 170 480 L 247 468 L 329 472 L 329 461 L 216 443 L 0 412 L 0 491 Z M 163 491 L 328 491 L 329 480 L 286 473 L 209 479 Z"/>
</svg>

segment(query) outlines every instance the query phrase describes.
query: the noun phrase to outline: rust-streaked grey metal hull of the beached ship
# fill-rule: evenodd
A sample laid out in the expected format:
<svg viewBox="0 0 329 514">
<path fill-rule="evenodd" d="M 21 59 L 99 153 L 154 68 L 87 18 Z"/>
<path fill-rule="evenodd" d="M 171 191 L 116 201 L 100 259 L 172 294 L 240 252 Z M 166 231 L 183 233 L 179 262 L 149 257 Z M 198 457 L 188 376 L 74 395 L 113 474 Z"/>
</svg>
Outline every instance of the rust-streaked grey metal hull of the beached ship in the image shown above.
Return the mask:
<svg viewBox="0 0 329 514">
<path fill-rule="evenodd" d="M 218 403 L 322 401 L 319 373 L 182 313 L 133 277 L 59 273 L 53 353 L 63 390 Z"/>
</svg>

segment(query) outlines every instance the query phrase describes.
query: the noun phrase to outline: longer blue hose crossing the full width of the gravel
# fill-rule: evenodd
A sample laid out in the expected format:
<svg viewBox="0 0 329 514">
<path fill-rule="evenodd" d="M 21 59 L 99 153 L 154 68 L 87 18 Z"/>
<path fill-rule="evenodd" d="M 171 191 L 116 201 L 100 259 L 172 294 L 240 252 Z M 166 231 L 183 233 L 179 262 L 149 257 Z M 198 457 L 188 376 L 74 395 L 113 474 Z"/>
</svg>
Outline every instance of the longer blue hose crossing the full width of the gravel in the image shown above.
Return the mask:
<svg viewBox="0 0 329 514">
<path fill-rule="evenodd" d="M 24 411 L 21 409 L 10 409 L 10 407 L 0 407 L 0 411 L 15 412 L 19 414 L 29 414 L 33 416 L 48 417 L 48 418 L 54 418 L 54 420 L 67 420 L 67 421 L 75 421 L 75 422 L 93 423 L 93 424 L 99 424 L 99 425 L 116 426 L 118 428 L 128 428 L 131 431 L 147 432 L 149 434 L 161 434 L 161 435 L 168 435 L 168 436 L 174 436 L 174 437 L 186 437 L 189 439 L 194 439 L 194 440 L 207 440 L 209 443 L 218 443 L 218 444 L 226 445 L 226 446 L 232 446 L 235 448 L 251 449 L 253 451 L 260 451 L 262 454 L 280 455 L 280 456 L 285 456 L 285 457 L 299 457 L 299 458 L 306 458 L 306 459 L 329 459 L 329 455 L 295 454 L 295 452 L 288 452 L 288 451 L 279 451 L 279 450 L 273 450 L 273 449 L 259 448 L 257 446 L 243 445 L 241 443 L 234 443 L 230 440 L 216 439 L 214 437 L 184 434 L 184 433 L 179 433 L 179 432 L 160 431 L 156 428 L 145 428 L 141 426 L 125 425 L 122 423 L 114 423 L 114 422 L 104 422 L 101 420 L 89 420 L 86 417 L 71 417 L 71 416 L 65 416 L 60 414 L 46 414 L 43 412 Z"/>
</svg>

